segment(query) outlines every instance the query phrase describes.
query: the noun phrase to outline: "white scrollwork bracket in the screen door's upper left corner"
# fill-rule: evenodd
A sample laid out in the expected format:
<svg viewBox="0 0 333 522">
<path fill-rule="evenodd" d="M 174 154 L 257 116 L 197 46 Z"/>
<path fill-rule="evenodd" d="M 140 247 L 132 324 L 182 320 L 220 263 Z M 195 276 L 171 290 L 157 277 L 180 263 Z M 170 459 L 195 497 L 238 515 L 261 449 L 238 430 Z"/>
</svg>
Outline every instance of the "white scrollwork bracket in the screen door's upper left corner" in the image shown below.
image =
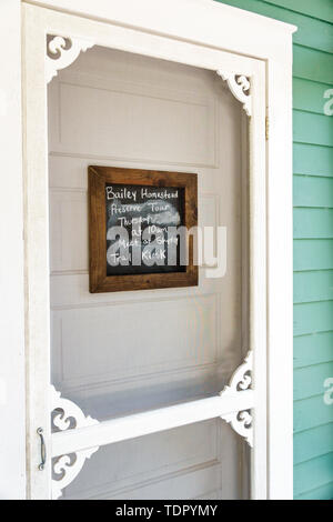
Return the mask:
<svg viewBox="0 0 333 522">
<path fill-rule="evenodd" d="M 94 46 L 91 40 L 63 38 L 48 34 L 46 54 L 46 80 L 49 83 L 60 69 L 65 69 L 77 60 L 81 51 Z"/>
</svg>

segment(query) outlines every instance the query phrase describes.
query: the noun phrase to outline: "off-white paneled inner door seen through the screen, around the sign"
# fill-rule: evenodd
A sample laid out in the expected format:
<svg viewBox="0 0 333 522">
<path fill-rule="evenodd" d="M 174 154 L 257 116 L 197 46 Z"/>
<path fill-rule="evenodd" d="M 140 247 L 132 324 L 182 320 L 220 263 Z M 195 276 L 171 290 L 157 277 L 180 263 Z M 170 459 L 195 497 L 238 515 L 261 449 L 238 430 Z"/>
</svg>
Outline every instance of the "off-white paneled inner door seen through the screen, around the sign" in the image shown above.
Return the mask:
<svg viewBox="0 0 333 522">
<path fill-rule="evenodd" d="M 213 71 L 94 47 L 49 84 L 52 383 L 99 421 L 219 393 L 249 349 L 246 116 Z M 228 270 L 198 288 L 89 293 L 88 165 L 199 179 L 199 225 Z M 216 245 L 215 245 L 216 247 Z M 249 495 L 220 419 L 101 448 L 65 499 Z"/>
</svg>

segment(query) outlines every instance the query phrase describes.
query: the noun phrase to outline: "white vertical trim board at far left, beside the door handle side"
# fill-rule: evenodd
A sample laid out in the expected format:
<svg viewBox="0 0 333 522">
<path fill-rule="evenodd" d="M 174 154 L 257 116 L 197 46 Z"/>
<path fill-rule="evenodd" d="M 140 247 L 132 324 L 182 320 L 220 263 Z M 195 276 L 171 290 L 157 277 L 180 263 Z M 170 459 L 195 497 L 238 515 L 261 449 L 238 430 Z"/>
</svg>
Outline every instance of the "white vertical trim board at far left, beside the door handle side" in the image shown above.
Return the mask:
<svg viewBox="0 0 333 522">
<path fill-rule="evenodd" d="M 27 488 L 21 26 L 20 0 L 1 0 L 1 500 L 23 500 Z"/>
</svg>

